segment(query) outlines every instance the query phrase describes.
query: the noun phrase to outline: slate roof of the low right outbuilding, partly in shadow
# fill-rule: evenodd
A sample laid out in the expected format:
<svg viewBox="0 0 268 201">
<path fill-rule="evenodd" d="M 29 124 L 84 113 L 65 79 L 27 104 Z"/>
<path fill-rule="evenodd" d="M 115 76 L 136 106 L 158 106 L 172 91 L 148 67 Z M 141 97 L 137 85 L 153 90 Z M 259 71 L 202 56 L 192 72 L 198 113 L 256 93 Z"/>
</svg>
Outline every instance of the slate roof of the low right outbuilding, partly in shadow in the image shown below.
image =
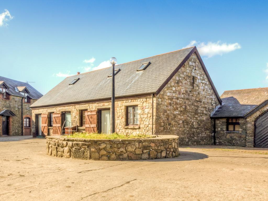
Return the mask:
<svg viewBox="0 0 268 201">
<path fill-rule="evenodd" d="M 223 105 L 212 117 L 244 117 L 268 99 L 268 87 L 225 91 L 221 99 Z"/>
</svg>

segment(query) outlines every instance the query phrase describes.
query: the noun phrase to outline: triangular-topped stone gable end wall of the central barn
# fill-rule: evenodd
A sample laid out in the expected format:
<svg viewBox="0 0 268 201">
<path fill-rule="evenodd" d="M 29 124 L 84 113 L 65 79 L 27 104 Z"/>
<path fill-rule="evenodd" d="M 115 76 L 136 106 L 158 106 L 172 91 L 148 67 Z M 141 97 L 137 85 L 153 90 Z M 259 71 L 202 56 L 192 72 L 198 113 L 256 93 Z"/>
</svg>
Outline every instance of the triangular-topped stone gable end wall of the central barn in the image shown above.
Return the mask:
<svg viewBox="0 0 268 201">
<path fill-rule="evenodd" d="M 194 53 L 156 98 L 155 134 L 177 135 L 184 145 L 211 144 L 210 115 L 219 104 Z"/>
</svg>

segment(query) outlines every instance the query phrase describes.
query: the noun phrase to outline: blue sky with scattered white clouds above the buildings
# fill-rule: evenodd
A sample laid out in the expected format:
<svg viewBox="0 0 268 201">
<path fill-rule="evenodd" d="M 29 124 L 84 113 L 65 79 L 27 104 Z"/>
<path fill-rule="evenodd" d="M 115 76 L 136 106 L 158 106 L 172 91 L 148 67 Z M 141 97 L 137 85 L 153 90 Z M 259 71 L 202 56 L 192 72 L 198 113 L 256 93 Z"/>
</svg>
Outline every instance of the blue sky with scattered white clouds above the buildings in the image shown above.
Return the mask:
<svg viewBox="0 0 268 201">
<path fill-rule="evenodd" d="M 267 1 L 2 1 L 1 76 L 42 94 L 65 75 L 198 47 L 221 95 L 268 86 Z M 2 13 L 2 14 L 1 14 Z"/>
</svg>

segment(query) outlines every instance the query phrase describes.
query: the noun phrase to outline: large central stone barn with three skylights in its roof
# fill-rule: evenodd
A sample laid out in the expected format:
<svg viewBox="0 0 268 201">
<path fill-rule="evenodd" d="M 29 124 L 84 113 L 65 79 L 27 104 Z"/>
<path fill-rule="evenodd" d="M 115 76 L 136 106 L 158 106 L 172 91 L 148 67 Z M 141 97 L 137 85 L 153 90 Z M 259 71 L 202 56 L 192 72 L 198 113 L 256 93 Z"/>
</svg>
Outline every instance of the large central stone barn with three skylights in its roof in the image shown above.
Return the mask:
<svg viewBox="0 0 268 201">
<path fill-rule="evenodd" d="M 66 77 L 31 105 L 36 135 L 109 133 L 111 69 Z M 212 144 L 211 112 L 221 98 L 196 49 L 115 66 L 116 132 L 177 135 L 180 144 Z"/>
</svg>

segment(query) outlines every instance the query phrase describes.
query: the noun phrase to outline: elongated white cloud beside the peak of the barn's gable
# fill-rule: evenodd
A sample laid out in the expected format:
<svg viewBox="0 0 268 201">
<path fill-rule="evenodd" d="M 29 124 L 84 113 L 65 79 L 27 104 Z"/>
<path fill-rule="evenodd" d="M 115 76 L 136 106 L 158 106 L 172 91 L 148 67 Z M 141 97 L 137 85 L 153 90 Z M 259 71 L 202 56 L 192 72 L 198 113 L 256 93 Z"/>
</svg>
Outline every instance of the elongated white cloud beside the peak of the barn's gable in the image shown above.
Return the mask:
<svg viewBox="0 0 268 201">
<path fill-rule="evenodd" d="M 196 42 L 195 40 L 191 41 L 186 47 L 192 47 L 192 46 L 196 46 L 198 49 L 198 52 L 200 53 L 200 55 L 202 56 L 206 56 L 206 57 L 213 57 L 215 55 L 222 55 L 224 53 L 228 53 L 237 49 L 240 49 L 241 46 L 239 43 L 222 43 L 220 40 L 213 43 L 213 42 L 208 42 L 208 43 L 204 43 L 204 42 Z"/>
</svg>

